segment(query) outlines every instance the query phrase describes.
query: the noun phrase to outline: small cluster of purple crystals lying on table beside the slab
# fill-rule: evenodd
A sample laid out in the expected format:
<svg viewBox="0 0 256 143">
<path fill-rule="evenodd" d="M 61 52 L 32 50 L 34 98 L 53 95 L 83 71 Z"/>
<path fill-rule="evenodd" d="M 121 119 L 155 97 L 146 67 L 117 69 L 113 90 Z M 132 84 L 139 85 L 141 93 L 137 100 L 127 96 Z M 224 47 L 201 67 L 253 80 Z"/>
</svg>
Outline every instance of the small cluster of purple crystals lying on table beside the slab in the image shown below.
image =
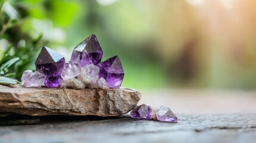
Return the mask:
<svg viewBox="0 0 256 143">
<path fill-rule="evenodd" d="M 131 111 L 131 117 L 134 119 L 152 119 L 161 122 L 177 122 L 178 119 L 171 109 L 166 106 L 151 107 L 146 104 L 138 105 Z"/>
</svg>

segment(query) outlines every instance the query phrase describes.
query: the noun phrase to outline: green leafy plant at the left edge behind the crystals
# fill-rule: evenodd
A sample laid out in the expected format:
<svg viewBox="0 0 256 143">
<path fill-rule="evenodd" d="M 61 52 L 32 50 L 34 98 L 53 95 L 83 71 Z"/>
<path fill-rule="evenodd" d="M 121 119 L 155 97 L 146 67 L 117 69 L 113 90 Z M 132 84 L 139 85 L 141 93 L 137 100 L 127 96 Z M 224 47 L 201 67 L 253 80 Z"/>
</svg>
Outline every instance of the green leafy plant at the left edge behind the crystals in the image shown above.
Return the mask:
<svg viewBox="0 0 256 143">
<path fill-rule="evenodd" d="M 33 64 L 36 52 L 45 42 L 41 39 L 42 35 L 33 39 L 28 33 L 21 32 L 21 24 L 27 17 L 26 9 L 13 1 L 1 1 L 0 5 L 0 41 L 8 45 L 5 48 L 0 44 L 0 83 L 15 84 L 18 82 L 3 76 L 20 79 L 23 71 Z"/>
</svg>

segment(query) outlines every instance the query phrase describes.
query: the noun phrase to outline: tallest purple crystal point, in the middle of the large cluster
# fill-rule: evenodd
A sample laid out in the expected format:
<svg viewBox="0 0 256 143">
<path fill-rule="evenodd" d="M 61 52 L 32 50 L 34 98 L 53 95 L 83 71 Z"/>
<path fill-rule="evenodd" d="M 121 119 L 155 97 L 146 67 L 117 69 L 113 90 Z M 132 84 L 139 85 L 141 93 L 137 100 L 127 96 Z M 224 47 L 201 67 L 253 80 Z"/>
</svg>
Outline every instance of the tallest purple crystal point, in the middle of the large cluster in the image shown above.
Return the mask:
<svg viewBox="0 0 256 143">
<path fill-rule="evenodd" d="M 100 63 L 102 55 L 103 51 L 100 43 L 98 43 L 96 36 L 92 34 L 73 49 L 70 61 L 80 63 L 82 67 L 87 64 L 97 65 Z"/>
</svg>

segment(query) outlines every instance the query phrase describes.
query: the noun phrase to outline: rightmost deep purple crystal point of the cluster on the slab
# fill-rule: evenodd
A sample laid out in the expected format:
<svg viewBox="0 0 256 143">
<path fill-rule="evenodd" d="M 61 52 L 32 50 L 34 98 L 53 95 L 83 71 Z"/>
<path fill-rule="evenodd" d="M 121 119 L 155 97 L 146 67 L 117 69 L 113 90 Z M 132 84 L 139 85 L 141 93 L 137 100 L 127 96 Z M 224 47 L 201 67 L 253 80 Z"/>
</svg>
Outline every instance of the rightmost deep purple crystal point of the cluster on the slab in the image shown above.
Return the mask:
<svg viewBox="0 0 256 143">
<path fill-rule="evenodd" d="M 125 73 L 117 55 L 99 63 L 98 67 L 100 67 L 99 77 L 106 79 L 110 88 L 120 88 Z"/>
</svg>

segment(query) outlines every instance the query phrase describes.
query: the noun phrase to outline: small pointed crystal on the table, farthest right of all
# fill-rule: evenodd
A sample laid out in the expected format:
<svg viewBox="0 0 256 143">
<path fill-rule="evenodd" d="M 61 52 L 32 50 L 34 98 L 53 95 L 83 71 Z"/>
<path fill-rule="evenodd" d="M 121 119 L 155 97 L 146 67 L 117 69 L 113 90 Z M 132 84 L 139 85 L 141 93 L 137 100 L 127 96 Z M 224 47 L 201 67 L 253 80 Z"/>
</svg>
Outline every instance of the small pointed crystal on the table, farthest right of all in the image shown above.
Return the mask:
<svg viewBox="0 0 256 143">
<path fill-rule="evenodd" d="M 162 106 L 156 111 L 156 118 L 162 122 L 177 122 L 177 117 L 169 107 Z"/>
</svg>

